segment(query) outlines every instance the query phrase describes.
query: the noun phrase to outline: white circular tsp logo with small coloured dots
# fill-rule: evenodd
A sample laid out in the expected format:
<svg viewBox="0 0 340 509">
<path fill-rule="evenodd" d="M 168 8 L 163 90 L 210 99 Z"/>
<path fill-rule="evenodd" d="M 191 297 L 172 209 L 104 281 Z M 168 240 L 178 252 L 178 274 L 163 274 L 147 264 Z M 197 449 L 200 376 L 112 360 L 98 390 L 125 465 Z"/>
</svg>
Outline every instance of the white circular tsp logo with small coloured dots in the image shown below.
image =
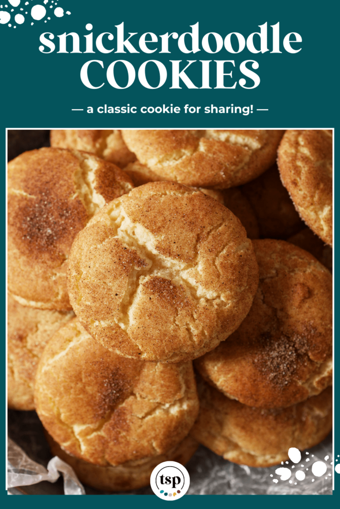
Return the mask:
<svg viewBox="0 0 340 509">
<path fill-rule="evenodd" d="M 177 500 L 189 489 L 188 470 L 176 461 L 164 461 L 152 470 L 150 485 L 153 493 L 163 500 Z"/>
</svg>

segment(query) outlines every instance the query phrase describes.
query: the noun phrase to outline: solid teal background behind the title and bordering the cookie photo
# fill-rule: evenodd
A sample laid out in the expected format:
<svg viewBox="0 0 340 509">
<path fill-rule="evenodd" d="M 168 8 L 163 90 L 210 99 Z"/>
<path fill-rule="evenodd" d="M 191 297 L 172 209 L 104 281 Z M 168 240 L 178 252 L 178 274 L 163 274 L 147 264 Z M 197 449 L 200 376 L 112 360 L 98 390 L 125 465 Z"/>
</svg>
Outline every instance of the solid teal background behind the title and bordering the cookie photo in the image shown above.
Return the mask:
<svg viewBox="0 0 340 509">
<path fill-rule="evenodd" d="M 4 3 L 4 2 L 3 2 Z M 23 0 L 21 2 L 24 3 Z M 41 4 L 43 2 L 41 1 Z M 274 3 L 272 1 L 256 2 L 226 2 L 215 1 L 207 3 L 202 0 L 186 2 L 184 0 L 172 0 L 169 3 L 149 0 L 147 3 L 130 2 L 116 3 L 104 0 L 60 0 L 59 7 L 64 11 L 71 11 L 70 16 L 56 18 L 51 15 L 47 23 L 36 21 L 33 26 L 26 20 L 16 29 L 10 29 L 7 25 L 0 25 L 0 48 L 1 48 L 1 80 L 0 80 L 0 130 L 1 130 L 1 157 L 5 161 L 5 135 L 6 128 L 335 128 L 335 149 L 337 150 L 337 128 L 339 126 L 339 77 L 338 77 L 338 7 L 335 2 L 320 3 L 315 1 L 286 1 Z M 19 6 L 20 7 L 20 6 Z M 22 6 L 24 7 L 24 6 Z M 30 7 L 30 6 L 28 6 Z M 18 9 L 15 9 L 18 11 Z M 49 10 L 49 9 L 48 9 Z M 31 20 L 30 20 L 31 21 Z M 221 50 L 217 54 L 206 54 L 204 51 L 192 54 L 182 54 L 172 51 L 171 54 L 115 54 L 107 55 L 96 52 L 95 54 L 57 54 L 57 50 L 51 54 L 42 54 L 38 48 L 39 36 L 49 31 L 62 34 L 66 31 L 77 32 L 82 39 L 88 34 L 86 23 L 92 23 L 94 36 L 101 32 L 116 34 L 115 25 L 124 21 L 125 33 L 138 32 L 139 36 L 144 32 L 154 32 L 161 35 L 166 32 L 190 31 L 190 25 L 199 21 L 200 36 L 208 32 L 217 32 L 224 38 L 230 32 L 240 32 L 247 37 L 252 32 L 259 31 L 258 25 L 266 21 L 268 26 L 280 21 L 280 34 L 298 32 L 302 36 L 302 50 L 296 54 L 286 53 L 281 49 L 281 54 L 252 54 L 243 50 L 239 54 L 231 55 Z M 271 29 L 269 29 L 271 34 Z M 139 38 L 139 37 L 138 37 Z M 136 41 L 138 39 L 136 37 Z M 54 42 L 56 42 L 55 37 Z M 84 39 L 84 38 L 83 38 Z M 135 40 L 135 39 L 133 39 Z M 85 41 L 85 39 L 84 39 Z M 115 43 L 115 39 L 113 41 Z M 109 45 L 108 45 L 109 46 Z M 175 48 L 177 41 L 171 41 Z M 269 43 L 269 48 L 270 48 Z M 81 48 L 82 49 L 82 48 Z M 181 90 L 169 90 L 170 84 L 165 84 L 158 90 L 147 90 L 139 82 L 126 90 L 113 89 L 106 83 L 101 89 L 89 90 L 80 80 L 80 69 L 88 60 L 102 60 L 104 68 L 114 60 L 125 59 L 133 63 L 138 69 L 146 60 L 163 61 L 182 60 L 234 60 L 236 67 L 233 76 L 237 79 L 242 77 L 238 66 L 244 60 L 256 60 L 259 63 L 257 72 L 261 82 L 256 89 L 244 90 L 237 86 L 234 90 L 188 90 L 185 85 Z M 199 68 L 199 66 L 197 66 Z M 105 77 L 105 72 L 99 68 L 98 84 Z M 199 83 L 198 76 L 190 74 L 193 81 Z M 95 77 L 97 78 L 97 76 Z M 123 79 L 123 78 L 122 78 Z M 196 84 L 197 84 L 196 83 Z M 198 84 L 199 86 L 199 84 Z M 136 105 L 138 107 L 157 106 L 173 103 L 174 105 L 205 106 L 211 103 L 215 105 L 246 106 L 253 104 L 256 108 L 269 108 L 269 111 L 254 111 L 252 115 L 206 115 L 187 114 L 178 115 L 104 115 L 94 112 L 86 114 L 82 111 L 71 111 L 71 108 L 94 108 L 108 104 L 112 106 Z M 203 108 L 202 108 L 203 109 Z M 336 152 L 335 152 L 336 153 Z M 3 166 L 3 182 L 5 193 L 5 168 Z M 335 169 L 334 190 L 337 193 L 338 183 Z M 5 203 L 5 196 L 4 202 Z M 336 200 L 335 200 L 336 205 Z M 5 205 L 2 205 L 5 217 Z M 337 217 L 337 208 L 334 218 Z M 3 233 L 5 235 L 5 220 L 3 221 Z M 335 222 L 335 224 L 337 224 Z M 336 256 L 336 249 L 334 250 Z M 5 249 L 2 251 L 3 267 L 5 267 Z M 336 282 L 336 271 L 334 282 Z M 2 272 L 5 302 L 5 271 Z M 337 286 L 335 286 L 337 289 Z M 337 293 L 335 293 L 336 297 Z M 336 297 L 337 299 L 337 297 Z M 337 309 L 337 300 L 335 300 Z M 3 317 L 5 319 L 5 306 L 3 305 Z M 337 319 L 337 314 L 335 313 Z M 336 329 L 335 329 L 336 330 Z M 335 346 L 335 363 L 339 363 L 338 352 Z M 335 373 L 335 382 L 337 381 Z M 335 431 L 339 423 L 338 391 L 335 391 Z M 2 446 L 5 457 L 5 445 Z M 335 457 L 340 454 L 340 445 L 335 433 Z M 5 462 L 4 462 L 5 463 Z M 4 472 L 5 473 L 5 472 Z M 340 498 L 340 475 L 334 474 L 335 492 L 332 497 L 326 498 L 322 503 L 338 506 Z M 6 492 L 3 490 L 3 495 Z M 106 496 L 104 496 L 106 497 Z M 320 504 L 318 497 L 308 496 L 303 501 L 298 497 L 283 499 L 282 496 L 261 496 L 256 498 L 243 496 L 237 500 L 225 496 L 186 496 L 179 499 L 177 505 L 200 507 L 206 504 L 214 504 L 216 507 L 225 507 L 226 504 L 249 506 L 250 504 L 261 507 L 286 506 L 287 503 L 298 506 L 301 503 L 311 507 Z M 21 504 L 34 504 L 35 506 L 48 503 L 58 504 L 58 499 L 49 496 L 31 496 L 22 499 L 20 497 L 7 497 L 8 505 L 13 507 Z M 83 497 L 77 500 L 78 504 L 90 506 L 93 499 Z M 155 507 L 162 501 L 155 496 L 116 496 L 115 498 L 101 498 L 100 503 L 115 504 L 120 507 L 137 505 L 140 507 Z M 63 504 L 74 504 L 73 499 L 63 499 Z"/>
</svg>

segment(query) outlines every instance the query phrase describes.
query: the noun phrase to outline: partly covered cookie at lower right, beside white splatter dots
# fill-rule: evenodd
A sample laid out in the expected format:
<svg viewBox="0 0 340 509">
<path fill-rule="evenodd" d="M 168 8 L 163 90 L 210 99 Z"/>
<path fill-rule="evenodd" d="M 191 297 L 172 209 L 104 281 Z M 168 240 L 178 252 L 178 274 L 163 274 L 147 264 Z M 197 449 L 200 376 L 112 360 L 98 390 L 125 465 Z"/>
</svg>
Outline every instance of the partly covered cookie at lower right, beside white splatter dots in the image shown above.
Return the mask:
<svg viewBox="0 0 340 509">
<path fill-rule="evenodd" d="M 288 450 L 320 443 L 332 429 L 332 389 L 284 409 L 264 410 L 230 400 L 199 384 L 200 413 L 190 434 L 225 460 L 270 467 L 289 459 Z"/>
</svg>

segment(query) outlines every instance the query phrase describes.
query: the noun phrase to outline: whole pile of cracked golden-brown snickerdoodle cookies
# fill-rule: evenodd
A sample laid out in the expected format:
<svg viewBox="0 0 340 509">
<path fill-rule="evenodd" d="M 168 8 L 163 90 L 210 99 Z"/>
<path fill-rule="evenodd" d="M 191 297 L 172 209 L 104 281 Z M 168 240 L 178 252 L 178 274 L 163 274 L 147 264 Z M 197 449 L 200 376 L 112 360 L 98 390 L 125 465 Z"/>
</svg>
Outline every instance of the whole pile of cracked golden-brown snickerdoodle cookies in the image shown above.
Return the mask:
<svg viewBox="0 0 340 509">
<path fill-rule="evenodd" d="M 51 131 L 9 163 L 8 403 L 84 483 L 329 433 L 331 134 Z"/>
</svg>

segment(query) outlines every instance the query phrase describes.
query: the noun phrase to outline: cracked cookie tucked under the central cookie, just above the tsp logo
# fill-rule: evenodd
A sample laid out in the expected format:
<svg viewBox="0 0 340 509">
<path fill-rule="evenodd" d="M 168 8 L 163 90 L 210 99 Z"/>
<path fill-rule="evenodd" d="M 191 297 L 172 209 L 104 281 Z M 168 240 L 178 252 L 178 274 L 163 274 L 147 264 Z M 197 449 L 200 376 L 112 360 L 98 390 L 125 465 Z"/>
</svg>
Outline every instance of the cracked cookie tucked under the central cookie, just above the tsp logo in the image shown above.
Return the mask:
<svg viewBox="0 0 340 509">
<path fill-rule="evenodd" d="M 68 454 L 101 466 L 166 454 L 188 435 L 199 405 L 191 362 L 126 359 L 98 345 L 76 319 L 40 358 L 35 404 Z"/>
</svg>

